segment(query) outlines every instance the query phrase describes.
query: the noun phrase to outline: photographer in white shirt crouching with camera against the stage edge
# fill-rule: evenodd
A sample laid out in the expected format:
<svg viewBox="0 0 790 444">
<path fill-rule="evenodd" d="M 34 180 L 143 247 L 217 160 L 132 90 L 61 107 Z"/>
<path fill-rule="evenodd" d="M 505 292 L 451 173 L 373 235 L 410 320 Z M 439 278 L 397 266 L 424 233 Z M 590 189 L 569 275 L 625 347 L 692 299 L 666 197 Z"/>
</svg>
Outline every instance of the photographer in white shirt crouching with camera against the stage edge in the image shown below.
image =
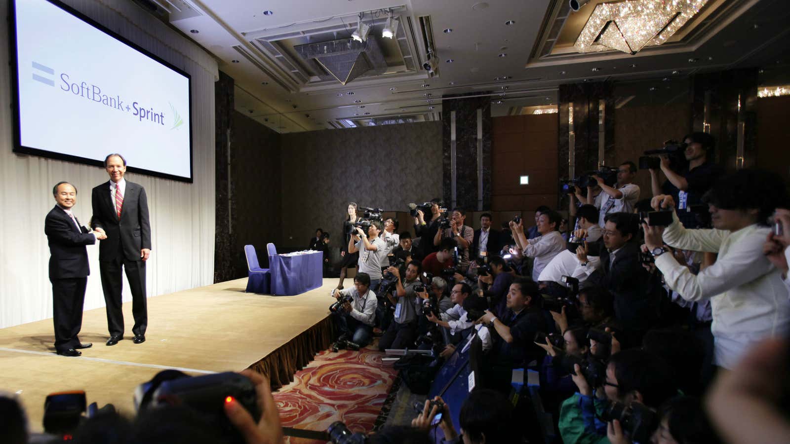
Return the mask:
<svg viewBox="0 0 790 444">
<path fill-rule="evenodd" d="M 371 277 L 367 273 L 357 273 L 354 277 L 354 287 L 345 290 L 336 289 L 334 297 L 338 302 L 332 304 L 329 310 L 332 312 L 337 331 L 340 332 L 337 343 L 349 341 L 350 336 L 350 341 L 360 348 L 369 344 L 373 337 L 378 303 L 376 294 L 371 291 Z"/>
</svg>

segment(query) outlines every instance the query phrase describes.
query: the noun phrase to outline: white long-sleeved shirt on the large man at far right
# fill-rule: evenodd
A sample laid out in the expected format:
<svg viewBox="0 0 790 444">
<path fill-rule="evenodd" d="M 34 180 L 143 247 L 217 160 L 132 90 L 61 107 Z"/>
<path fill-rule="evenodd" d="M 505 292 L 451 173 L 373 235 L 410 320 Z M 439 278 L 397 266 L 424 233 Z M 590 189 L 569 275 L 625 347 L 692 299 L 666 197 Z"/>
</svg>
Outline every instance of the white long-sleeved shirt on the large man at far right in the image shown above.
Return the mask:
<svg viewBox="0 0 790 444">
<path fill-rule="evenodd" d="M 758 341 L 784 334 L 790 327 L 790 299 L 781 273 L 762 245 L 769 228 L 757 224 L 738 231 L 687 230 L 673 213 L 664 231 L 664 242 L 683 250 L 718 253 L 716 263 L 696 276 L 675 261 L 672 254 L 656 258 L 669 288 L 683 299 L 710 299 L 714 362 L 724 368 L 735 363 Z"/>
</svg>

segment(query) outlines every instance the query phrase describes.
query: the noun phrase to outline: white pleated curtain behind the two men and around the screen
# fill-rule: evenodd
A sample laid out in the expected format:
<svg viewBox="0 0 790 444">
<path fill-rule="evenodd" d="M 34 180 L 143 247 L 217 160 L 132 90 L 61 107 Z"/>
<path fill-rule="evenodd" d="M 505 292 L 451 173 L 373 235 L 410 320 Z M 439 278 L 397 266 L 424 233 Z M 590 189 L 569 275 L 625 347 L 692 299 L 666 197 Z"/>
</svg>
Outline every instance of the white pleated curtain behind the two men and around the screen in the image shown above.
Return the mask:
<svg viewBox="0 0 790 444">
<path fill-rule="evenodd" d="M 149 198 L 153 244 L 152 256 L 146 265 L 149 297 L 211 284 L 214 272 L 216 61 L 133 2 L 65 2 L 192 76 L 194 183 L 133 173 L 127 173 L 126 178 L 145 186 Z M 8 3 L 9 0 L 0 0 L 4 16 L 9 10 Z M 4 42 L 0 44 L 0 328 L 52 317 L 52 289 L 47 269 L 49 248 L 44 235 L 44 217 L 55 205 L 52 186 L 61 180 L 77 186 L 74 212 L 82 224 L 88 224 L 92 213 L 91 189 L 109 179 L 101 167 L 12 152 L 12 86 L 9 48 L 5 44 L 9 30 L 5 18 L 0 20 L 0 36 Z M 101 59 L 97 58 L 96 62 L 101 63 Z M 107 147 L 107 153 L 113 151 L 113 147 Z M 85 310 L 104 306 L 98 245 L 88 246 L 88 257 L 91 275 L 85 294 Z M 131 300 L 126 278 L 123 300 Z M 160 316 L 156 319 L 166 322 L 166 318 Z M 149 324 L 156 328 L 155 322 Z"/>
</svg>

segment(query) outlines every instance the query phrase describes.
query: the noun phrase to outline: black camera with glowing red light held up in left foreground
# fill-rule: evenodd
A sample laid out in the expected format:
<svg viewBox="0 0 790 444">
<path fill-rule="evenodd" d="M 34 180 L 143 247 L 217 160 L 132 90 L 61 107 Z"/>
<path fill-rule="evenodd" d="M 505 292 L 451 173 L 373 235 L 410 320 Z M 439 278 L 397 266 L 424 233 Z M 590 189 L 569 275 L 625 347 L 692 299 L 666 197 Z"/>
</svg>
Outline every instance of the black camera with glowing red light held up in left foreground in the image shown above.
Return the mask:
<svg viewBox="0 0 790 444">
<path fill-rule="evenodd" d="M 207 423 L 222 431 L 228 442 L 243 443 L 244 438 L 225 414 L 224 404 L 233 397 L 250 413 L 255 423 L 261 419 L 258 393 L 250 378 L 226 371 L 190 377 L 180 371 L 160 371 L 137 388 L 139 410 L 167 405 L 185 405 L 204 414 Z M 138 401 L 137 399 L 135 401 Z"/>
</svg>

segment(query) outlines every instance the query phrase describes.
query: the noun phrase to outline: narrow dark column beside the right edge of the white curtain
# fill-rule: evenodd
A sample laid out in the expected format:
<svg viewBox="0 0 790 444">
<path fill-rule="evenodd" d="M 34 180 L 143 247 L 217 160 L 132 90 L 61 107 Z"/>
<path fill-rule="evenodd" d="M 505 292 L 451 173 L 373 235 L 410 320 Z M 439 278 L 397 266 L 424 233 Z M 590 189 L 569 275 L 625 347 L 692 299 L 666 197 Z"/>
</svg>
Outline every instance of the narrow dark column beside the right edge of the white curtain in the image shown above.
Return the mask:
<svg viewBox="0 0 790 444">
<path fill-rule="evenodd" d="M 220 71 L 220 80 L 214 84 L 214 117 L 216 125 L 216 234 L 214 236 L 214 282 L 235 279 L 233 266 L 235 254 L 231 238 L 232 214 L 228 200 L 228 145 L 231 130 L 231 115 L 234 112 L 234 81 L 228 74 Z"/>
</svg>

